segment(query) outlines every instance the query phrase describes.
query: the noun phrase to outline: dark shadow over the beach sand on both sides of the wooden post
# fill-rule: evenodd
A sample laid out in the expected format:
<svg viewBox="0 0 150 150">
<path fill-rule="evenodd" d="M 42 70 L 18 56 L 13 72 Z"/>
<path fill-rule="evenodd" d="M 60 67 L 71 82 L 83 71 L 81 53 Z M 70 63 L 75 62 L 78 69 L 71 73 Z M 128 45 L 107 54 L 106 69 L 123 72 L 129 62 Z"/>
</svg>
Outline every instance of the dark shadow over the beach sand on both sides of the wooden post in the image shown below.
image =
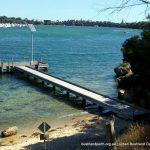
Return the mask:
<svg viewBox="0 0 150 150">
<path fill-rule="evenodd" d="M 109 119 L 109 117 L 99 118 L 95 116 L 89 120 L 89 123 L 86 123 L 84 120 L 77 122 L 72 126 L 80 126 L 81 128 L 78 130 L 78 133 L 71 136 L 51 138 L 51 131 L 49 131 L 50 139 L 46 142 L 47 150 L 107 150 L 110 147 L 107 145 L 108 140 L 105 133 L 105 123 Z M 121 133 L 129 125 L 129 122 L 127 122 L 116 118 L 116 135 Z M 43 150 L 44 144 L 43 142 L 38 142 L 28 145 L 24 149 Z"/>
</svg>

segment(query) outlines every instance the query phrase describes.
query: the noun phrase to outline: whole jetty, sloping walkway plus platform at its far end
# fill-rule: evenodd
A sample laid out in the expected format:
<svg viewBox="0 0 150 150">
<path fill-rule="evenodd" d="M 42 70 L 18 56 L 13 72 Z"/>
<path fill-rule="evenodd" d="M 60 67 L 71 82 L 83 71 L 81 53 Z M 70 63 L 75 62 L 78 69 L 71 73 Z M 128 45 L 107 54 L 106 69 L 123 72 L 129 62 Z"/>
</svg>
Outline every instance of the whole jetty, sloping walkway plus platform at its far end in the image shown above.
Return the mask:
<svg viewBox="0 0 150 150">
<path fill-rule="evenodd" d="M 48 63 L 42 61 L 0 63 L 1 74 L 19 72 L 21 74 L 24 74 L 26 77 L 33 78 L 34 80 L 40 80 L 42 84 L 51 84 L 54 93 L 56 87 L 59 87 L 66 92 L 66 95 L 68 97 L 71 93 L 75 96 L 81 97 L 83 104 L 85 105 L 86 100 L 88 100 L 94 104 L 97 104 L 99 108 L 108 109 L 122 118 L 133 119 L 150 113 L 149 110 L 146 110 L 144 108 L 131 105 L 127 102 L 111 98 L 107 95 L 103 95 L 75 83 L 60 79 L 50 74 L 46 74 L 45 72 L 41 72 L 45 70 L 48 70 Z"/>
</svg>

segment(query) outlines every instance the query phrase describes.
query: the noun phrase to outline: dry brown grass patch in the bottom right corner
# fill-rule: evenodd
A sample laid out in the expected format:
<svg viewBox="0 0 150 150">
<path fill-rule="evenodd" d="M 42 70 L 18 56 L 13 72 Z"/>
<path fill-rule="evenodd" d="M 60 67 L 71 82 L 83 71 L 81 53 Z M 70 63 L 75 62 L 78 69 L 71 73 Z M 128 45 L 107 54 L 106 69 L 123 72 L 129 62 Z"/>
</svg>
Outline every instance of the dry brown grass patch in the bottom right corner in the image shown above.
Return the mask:
<svg viewBox="0 0 150 150">
<path fill-rule="evenodd" d="M 117 150 L 148 150 L 150 149 L 150 125 L 138 123 L 131 125 L 116 142 L 120 144 Z M 127 143 L 127 146 L 121 146 L 122 143 Z"/>
</svg>

